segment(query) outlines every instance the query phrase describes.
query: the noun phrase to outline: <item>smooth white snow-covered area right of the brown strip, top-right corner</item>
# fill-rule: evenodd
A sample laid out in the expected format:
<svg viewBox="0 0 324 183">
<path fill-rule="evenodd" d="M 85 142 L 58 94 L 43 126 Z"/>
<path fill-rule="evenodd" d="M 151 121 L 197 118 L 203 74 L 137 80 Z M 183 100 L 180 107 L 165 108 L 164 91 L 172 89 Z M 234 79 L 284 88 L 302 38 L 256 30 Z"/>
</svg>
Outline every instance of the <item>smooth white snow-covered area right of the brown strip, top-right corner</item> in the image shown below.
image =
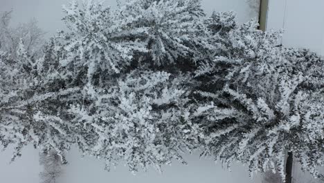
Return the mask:
<svg viewBox="0 0 324 183">
<path fill-rule="evenodd" d="M 271 0 L 268 26 L 284 28 L 282 44 L 324 55 L 324 1 Z"/>
</svg>

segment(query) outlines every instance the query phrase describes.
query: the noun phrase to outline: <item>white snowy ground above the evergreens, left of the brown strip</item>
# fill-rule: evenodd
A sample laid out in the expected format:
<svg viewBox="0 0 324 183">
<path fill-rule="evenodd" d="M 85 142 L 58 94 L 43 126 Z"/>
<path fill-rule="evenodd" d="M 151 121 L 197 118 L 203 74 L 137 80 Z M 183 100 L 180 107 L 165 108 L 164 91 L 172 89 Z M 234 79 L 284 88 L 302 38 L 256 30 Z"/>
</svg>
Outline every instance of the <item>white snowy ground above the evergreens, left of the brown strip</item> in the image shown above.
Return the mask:
<svg viewBox="0 0 324 183">
<path fill-rule="evenodd" d="M 81 1 L 81 0 L 80 0 Z M 259 0 L 202 0 L 202 6 L 208 14 L 216 11 L 234 10 L 240 22 L 249 21 L 258 15 L 258 11 L 251 10 L 246 1 Z M 39 21 L 40 28 L 46 30 L 46 37 L 51 37 L 57 29 L 64 28 L 61 21 L 64 16 L 62 4 L 68 4 L 69 0 L 0 0 L 0 12 L 13 10 L 12 25 L 26 22 L 35 17 Z M 116 6 L 116 0 L 106 0 L 107 6 Z"/>
</svg>

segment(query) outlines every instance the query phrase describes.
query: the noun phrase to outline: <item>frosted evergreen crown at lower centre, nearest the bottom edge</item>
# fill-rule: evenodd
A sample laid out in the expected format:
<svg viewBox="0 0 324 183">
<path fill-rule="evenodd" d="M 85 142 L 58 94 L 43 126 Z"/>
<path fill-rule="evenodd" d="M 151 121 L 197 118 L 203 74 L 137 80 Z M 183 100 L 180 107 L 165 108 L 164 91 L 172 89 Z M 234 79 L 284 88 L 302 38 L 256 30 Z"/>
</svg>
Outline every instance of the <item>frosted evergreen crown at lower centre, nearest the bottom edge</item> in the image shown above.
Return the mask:
<svg viewBox="0 0 324 183">
<path fill-rule="evenodd" d="M 188 77 L 132 71 L 112 85 L 84 89 L 89 105 L 71 106 L 78 146 L 84 154 L 105 159 L 106 168 L 125 160 L 132 172 L 162 164 L 199 146 L 199 127 L 186 120 Z"/>
</svg>

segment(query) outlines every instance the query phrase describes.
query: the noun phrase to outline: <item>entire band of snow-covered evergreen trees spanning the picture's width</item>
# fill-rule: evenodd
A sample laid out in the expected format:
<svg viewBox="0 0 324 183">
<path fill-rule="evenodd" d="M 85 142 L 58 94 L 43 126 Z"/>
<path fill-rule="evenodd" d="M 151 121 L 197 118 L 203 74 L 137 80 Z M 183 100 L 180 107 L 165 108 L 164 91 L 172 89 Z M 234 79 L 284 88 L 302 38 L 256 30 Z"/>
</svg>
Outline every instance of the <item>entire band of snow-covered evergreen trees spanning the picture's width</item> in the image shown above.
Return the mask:
<svg viewBox="0 0 324 183">
<path fill-rule="evenodd" d="M 278 46 L 280 32 L 204 17 L 198 0 L 89 0 L 64 6 L 67 32 L 33 57 L 0 49 L 0 140 L 160 171 L 203 150 L 226 166 L 285 175 L 287 153 L 324 166 L 324 62 Z M 26 47 L 27 46 L 27 47 Z"/>
</svg>

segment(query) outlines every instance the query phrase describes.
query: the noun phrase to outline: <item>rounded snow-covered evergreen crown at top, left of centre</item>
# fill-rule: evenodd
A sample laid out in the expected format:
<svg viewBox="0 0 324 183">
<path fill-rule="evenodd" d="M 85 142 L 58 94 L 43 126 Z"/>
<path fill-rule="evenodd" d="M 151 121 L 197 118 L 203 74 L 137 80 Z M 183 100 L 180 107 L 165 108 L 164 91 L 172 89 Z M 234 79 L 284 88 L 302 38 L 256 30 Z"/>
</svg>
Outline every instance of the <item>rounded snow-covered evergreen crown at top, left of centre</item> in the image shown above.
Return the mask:
<svg viewBox="0 0 324 183">
<path fill-rule="evenodd" d="M 64 6 L 64 12 L 64 21 L 70 31 L 61 33 L 66 55 L 60 64 L 66 67 L 66 74 L 85 72 L 85 79 L 92 82 L 98 73 L 106 73 L 105 76 L 120 73 L 131 64 L 135 51 L 146 51 L 136 39 L 141 30 L 128 28 L 102 3 L 84 1 L 79 6 L 72 1 L 70 6 Z"/>
</svg>

